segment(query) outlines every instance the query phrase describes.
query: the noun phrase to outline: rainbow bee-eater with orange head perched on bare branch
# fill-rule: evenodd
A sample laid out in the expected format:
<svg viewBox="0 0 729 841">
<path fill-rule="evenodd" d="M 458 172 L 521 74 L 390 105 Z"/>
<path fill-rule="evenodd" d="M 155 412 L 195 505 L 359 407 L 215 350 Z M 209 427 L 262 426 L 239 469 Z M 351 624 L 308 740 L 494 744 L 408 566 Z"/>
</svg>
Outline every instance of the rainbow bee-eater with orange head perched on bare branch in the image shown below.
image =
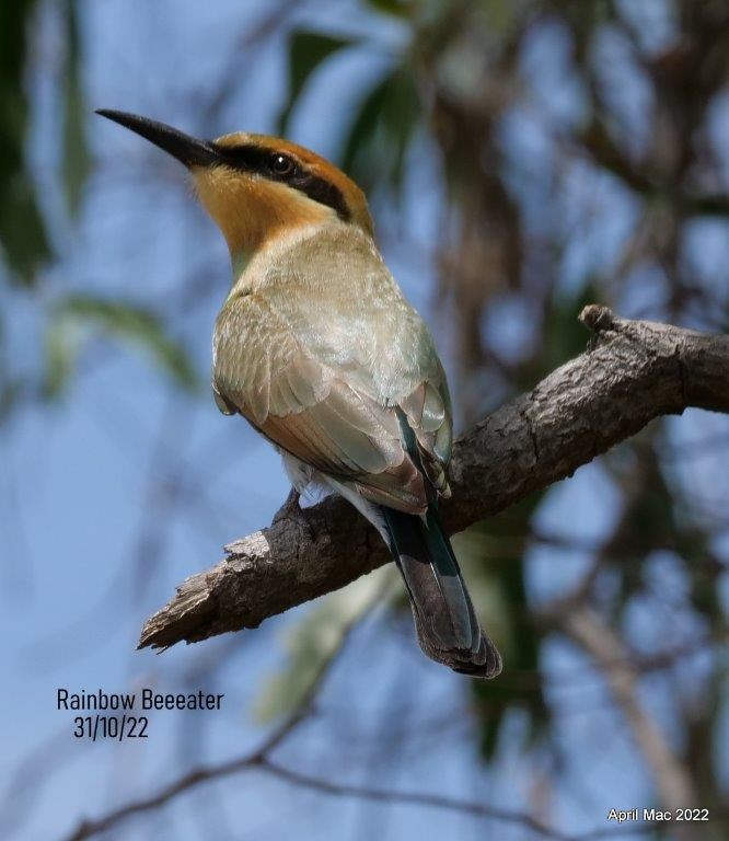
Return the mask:
<svg viewBox="0 0 729 841">
<path fill-rule="evenodd" d="M 212 341 L 218 408 L 274 445 L 294 495 L 339 494 L 374 526 L 428 657 L 496 677 L 501 657 L 439 512 L 450 496 L 445 372 L 383 261 L 363 192 L 281 138 L 202 140 L 135 114 L 96 113 L 182 162 L 227 241 L 232 285 Z"/>
</svg>

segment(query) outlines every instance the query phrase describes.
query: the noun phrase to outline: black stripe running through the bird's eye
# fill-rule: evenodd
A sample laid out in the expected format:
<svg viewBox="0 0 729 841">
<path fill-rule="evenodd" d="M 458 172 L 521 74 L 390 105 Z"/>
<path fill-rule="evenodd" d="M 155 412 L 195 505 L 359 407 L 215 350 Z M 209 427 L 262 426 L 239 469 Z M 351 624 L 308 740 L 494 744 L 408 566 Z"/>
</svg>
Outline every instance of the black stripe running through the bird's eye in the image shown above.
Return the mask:
<svg viewBox="0 0 729 841">
<path fill-rule="evenodd" d="M 314 201 L 331 207 L 344 221 L 348 222 L 351 219 L 345 197 L 336 184 L 306 171 L 285 152 L 262 149 L 258 146 L 216 146 L 216 149 L 229 166 L 243 172 L 255 172 L 265 178 L 288 184 Z M 277 158 L 290 161 L 291 165 L 286 170 L 277 171 L 274 166 Z"/>
</svg>

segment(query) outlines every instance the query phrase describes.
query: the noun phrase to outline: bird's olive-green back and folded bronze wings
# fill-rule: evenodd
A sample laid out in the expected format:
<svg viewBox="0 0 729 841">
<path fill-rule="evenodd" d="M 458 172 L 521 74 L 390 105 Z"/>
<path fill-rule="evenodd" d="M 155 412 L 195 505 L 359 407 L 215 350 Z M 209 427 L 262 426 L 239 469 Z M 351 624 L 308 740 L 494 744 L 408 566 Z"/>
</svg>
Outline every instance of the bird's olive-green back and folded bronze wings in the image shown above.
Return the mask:
<svg viewBox="0 0 729 841">
<path fill-rule="evenodd" d="M 443 369 L 364 237 L 304 240 L 231 295 L 216 324 L 213 389 L 284 450 L 373 502 L 419 512 L 428 484 L 448 492 Z"/>
</svg>

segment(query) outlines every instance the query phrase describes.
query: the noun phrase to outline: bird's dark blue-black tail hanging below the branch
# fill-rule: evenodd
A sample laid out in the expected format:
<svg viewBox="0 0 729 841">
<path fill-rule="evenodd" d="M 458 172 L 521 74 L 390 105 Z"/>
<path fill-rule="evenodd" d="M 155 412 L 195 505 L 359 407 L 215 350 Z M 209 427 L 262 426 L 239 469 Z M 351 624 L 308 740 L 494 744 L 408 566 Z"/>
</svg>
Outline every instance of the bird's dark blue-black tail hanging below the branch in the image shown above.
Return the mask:
<svg viewBox="0 0 729 841">
<path fill-rule="evenodd" d="M 390 549 L 410 596 L 420 648 L 455 671 L 496 677 L 501 656 L 478 624 L 435 504 L 424 517 L 381 510 Z"/>
</svg>

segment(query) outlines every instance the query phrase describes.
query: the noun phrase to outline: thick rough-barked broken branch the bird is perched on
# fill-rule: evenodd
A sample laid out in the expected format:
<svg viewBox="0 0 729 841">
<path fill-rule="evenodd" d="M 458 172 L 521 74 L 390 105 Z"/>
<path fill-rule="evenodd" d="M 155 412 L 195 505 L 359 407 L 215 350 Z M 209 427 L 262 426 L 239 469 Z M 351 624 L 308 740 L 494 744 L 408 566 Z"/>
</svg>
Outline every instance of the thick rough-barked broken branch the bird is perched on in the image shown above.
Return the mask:
<svg viewBox="0 0 729 841">
<path fill-rule="evenodd" d="M 449 533 L 571 475 L 660 415 L 729 412 L 729 336 L 627 321 L 595 304 L 580 320 L 595 333 L 591 348 L 455 442 L 453 496 L 442 510 Z M 287 505 L 225 551 L 146 623 L 140 648 L 256 627 L 389 560 L 374 529 L 339 498 Z"/>
</svg>

